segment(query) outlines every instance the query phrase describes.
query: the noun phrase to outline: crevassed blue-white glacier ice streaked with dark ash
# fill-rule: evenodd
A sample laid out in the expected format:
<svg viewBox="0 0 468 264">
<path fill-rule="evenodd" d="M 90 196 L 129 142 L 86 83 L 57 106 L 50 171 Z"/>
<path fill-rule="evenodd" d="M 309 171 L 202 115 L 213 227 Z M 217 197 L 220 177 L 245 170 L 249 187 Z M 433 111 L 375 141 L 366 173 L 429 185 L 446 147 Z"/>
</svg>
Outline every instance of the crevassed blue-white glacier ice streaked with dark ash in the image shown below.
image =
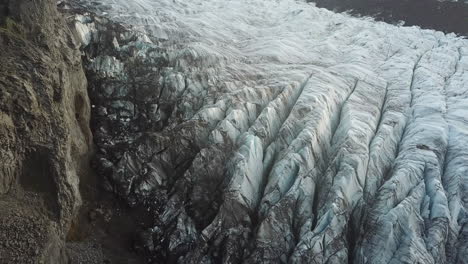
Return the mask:
<svg viewBox="0 0 468 264">
<path fill-rule="evenodd" d="M 467 263 L 467 40 L 293 0 L 81 2 L 97 159 L 154 214 L 154 261 Z"/>
</svg>

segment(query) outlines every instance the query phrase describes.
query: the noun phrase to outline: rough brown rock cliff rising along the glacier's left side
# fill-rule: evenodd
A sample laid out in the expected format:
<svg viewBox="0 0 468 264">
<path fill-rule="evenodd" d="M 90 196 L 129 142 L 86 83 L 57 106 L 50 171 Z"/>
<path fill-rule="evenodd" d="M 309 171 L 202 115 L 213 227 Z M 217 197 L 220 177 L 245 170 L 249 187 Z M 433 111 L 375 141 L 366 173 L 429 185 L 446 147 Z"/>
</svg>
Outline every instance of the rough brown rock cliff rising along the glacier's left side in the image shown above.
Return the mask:
<svg viewBox="0 0 468 264">
<path fill-rule="evenodd" d="M 92 142 L 87 81 L 51 0 L 0 1 L 0 263 L 63 263 Z"/>
</svg>

